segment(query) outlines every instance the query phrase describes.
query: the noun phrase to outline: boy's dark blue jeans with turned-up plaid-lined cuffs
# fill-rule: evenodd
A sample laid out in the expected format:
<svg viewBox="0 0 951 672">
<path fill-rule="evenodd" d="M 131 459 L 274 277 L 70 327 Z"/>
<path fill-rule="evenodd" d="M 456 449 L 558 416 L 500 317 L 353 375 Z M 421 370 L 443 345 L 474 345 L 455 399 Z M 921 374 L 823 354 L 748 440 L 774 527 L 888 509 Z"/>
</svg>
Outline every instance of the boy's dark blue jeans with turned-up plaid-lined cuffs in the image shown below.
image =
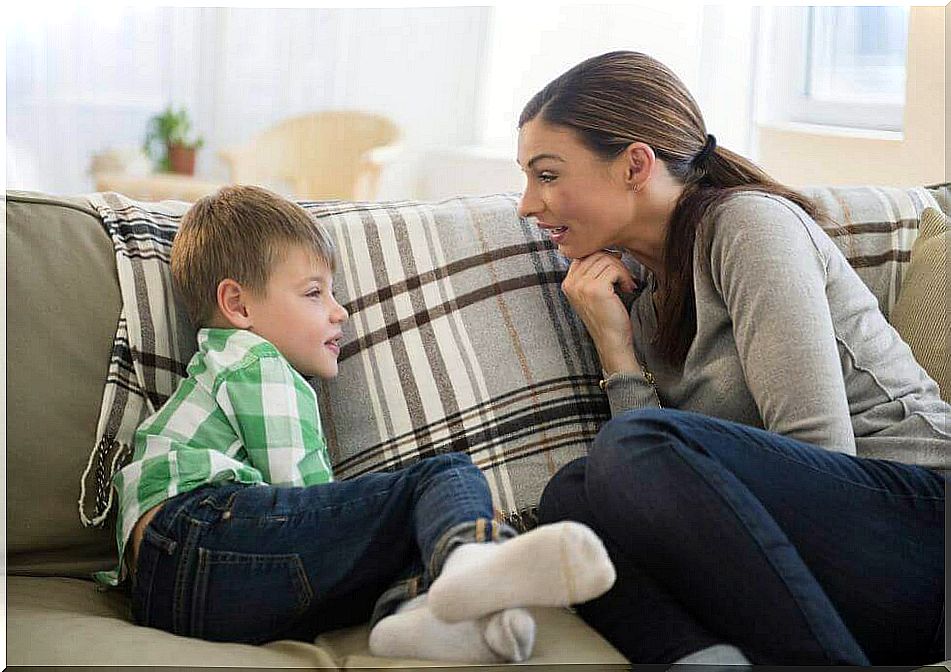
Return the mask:
<svg viewBox="0 0 951 672">
<path fill-rule="evenodd" d="M 146 527 L 133 616 L 215 641 L 313 640 L 425 592 L 458 544 L 514 534 L 463 453 L 304 488 L 203 486 Z"/>
</svg>

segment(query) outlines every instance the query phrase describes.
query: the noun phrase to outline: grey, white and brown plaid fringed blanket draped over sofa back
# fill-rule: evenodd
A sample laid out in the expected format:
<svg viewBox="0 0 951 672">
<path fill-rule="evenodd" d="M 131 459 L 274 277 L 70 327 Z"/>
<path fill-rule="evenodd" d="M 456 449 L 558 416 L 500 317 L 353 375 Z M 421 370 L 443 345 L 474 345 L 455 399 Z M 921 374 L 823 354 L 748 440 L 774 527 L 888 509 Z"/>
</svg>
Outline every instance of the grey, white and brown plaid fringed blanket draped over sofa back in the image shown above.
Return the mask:
<svg viewBox="0 0 951 672">
<path fill-rule="evenodd" d="M 828 233 L 888 315 L 934 196 L 806 192 L 831 213 Z M 609 417 L 597 354 L 560 291 L 566 261 L 516 215 L 516 199 L 301 202 L 337 242 L 335 285 L 351 315 L 340 374 L 313 383 L 338 478 L 465 451 L 499 516 L 526 529 L 545 483 Z M 102 525 L 112 475 L 184 376 L 195 334 L 168 269 L 187 204 L 90 200 L 116 250 L 123 303 L 79 500 L 83 524 Z"/>
</svg>

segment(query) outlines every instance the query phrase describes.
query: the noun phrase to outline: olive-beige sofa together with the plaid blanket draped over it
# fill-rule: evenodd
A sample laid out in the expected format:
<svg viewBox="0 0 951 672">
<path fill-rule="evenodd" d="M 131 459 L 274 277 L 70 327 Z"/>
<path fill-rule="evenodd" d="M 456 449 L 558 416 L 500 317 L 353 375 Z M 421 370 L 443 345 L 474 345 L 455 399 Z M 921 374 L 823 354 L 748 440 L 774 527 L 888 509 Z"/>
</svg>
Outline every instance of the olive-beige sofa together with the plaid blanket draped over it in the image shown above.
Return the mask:
<svg viewBox="0 0 951 672">
<path fill-rule="evenodd" d="M 829 234 L 883 312 L 900 307 L 903 290 L 912 293 L 902 280 L 915 275 L 921 216 L 951 211 L 949 185 L 807 191 L 832 214 Z M 351 313 L 339 379 L 314 383 L 338 477 L 465 450 L 485 470 L 498 515 L 527 529 L 545 480 L 584 454 L 607 419 L 596 353 L 559 291 L 565 260 L 515 214 L 516 200 L 302 202 L 337 241 L 335 284 Z M 452 667 L 375 658 L 365 624 L 261 646 L 178 637 L 134 625 L 127 594 L 91 580 L 115 563 L 102 465 L 121 463 L 122 446 L 102 421 L 104 390 L 118 391 L 113 401 L 136 397 L 144 413 L 173 389 L 194 348 L 164 275 L 150 291 L 168 303 L 153 310 L 145 337 L 126 324 L 142 287 L 118 269 L 130 257 L 167 261 L 186 207 L 7 192 L 7 663 Z M 150 254 L 122 247 L 122 218 L 165 231 Z M 937 379 L 947 372 L 947 306 L 925 304 L 908 329 L 932 335 L 918 329 L 908 340 L 938 353 Z M 127 339 L 117 339 L 117 325 Z M 627 669 L 570 609 L 534 614 L 530 664 Z"/>
</svg>

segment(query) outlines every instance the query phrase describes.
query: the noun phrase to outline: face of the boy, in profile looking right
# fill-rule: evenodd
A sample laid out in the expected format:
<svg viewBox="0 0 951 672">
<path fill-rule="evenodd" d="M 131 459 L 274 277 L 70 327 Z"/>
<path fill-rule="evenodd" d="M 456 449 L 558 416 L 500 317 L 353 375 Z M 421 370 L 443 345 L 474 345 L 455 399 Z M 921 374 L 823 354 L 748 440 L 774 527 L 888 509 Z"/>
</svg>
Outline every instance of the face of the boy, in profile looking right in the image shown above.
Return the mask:
<svg viewBox="0 0 951 672">
<path fill-rule="evenodd" d="M 325 263 L 302 247 L 288 250 L 263 296 L 245 297 L 250 330 L 266 338 L 307 376 L 337 375 L 341 327 L 347 311 L 333 296 Z"/>
</svg>

